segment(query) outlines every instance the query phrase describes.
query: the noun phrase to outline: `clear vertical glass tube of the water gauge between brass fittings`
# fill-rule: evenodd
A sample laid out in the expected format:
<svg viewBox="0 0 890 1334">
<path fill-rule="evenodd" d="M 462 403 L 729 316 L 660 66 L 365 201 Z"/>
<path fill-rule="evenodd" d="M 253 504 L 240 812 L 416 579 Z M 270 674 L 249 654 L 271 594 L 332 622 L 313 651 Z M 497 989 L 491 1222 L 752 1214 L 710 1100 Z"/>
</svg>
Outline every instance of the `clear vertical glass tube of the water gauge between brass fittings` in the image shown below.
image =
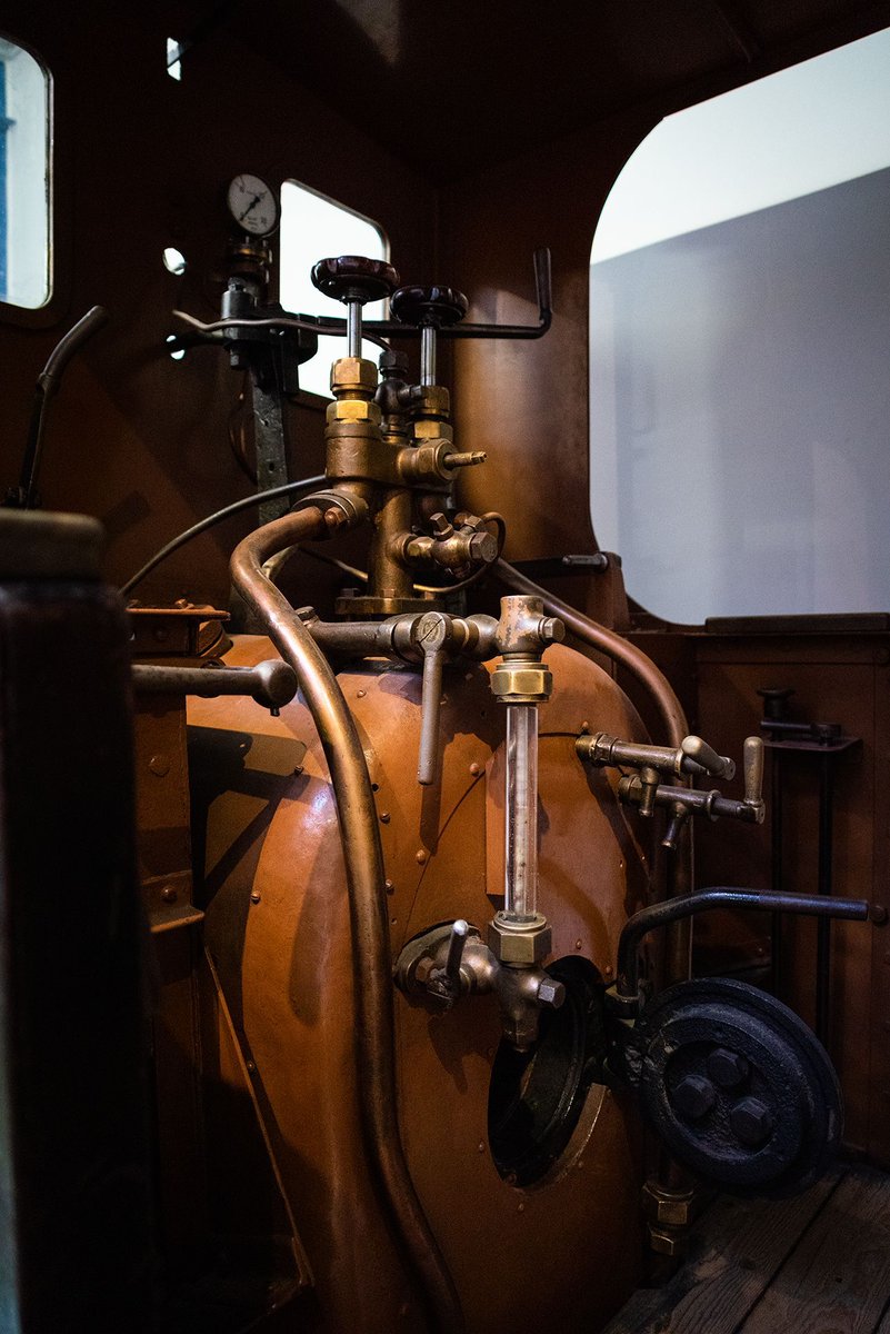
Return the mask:
<svg viewBox="0 0 890 1334">
<path fill-rule="evenodd" d="M 538 907 L 538 710 L 506 706 L 504 915 L 529 922 Z"/>
</svg>

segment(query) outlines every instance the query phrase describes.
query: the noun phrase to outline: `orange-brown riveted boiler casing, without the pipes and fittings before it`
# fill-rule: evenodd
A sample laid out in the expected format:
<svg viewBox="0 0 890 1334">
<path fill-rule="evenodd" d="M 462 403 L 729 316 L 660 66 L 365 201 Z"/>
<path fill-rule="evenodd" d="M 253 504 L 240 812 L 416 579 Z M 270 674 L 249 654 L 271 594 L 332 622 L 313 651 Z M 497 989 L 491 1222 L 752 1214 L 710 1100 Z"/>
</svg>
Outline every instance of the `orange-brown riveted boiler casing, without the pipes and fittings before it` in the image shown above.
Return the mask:
<svg viewBox="0 0 890 1334">
<path fill-rule="evenodd" d="M 273 654 L 268 639 L 236 636 L 226 660 L 250 666 Z M 540 712 L 540 907 L 553 930 L 552 958 L 586 958 L 608 983 L 618 934 L 646 900 L 650 872 L 617 779 L 585 768 L 574 738 L 584 726 L 645 732 L 597 664 L 562 646 L 546 660 L 554 691 Z M 338 682 L 376 794 L 393 958 L 444 920 L 462 916 L 485 932 L 502 902 L 505 731 L 486 668 L 446 668 L 441 778 L 432 787 L 416 778 L 420 674 L 369 660 Z M 280 718 L 226 698 L 191 699 L 188 720 L 207 942 L 312 1266 L 320 1327 L 422 1330 L 362 1142 L 344 862 L 312 718 L 300 696 Z M 394 1009 L 408 1165 L 469 1334 L 545 1322 L 564 1334 L 601 1327 L 640 1277 L 633 1107 L 592 1085 L 568 1146 L 520 1187 L 498 1170 L 489 1142 L 501 1042 L 493 996 L 436 1014 L 397 992 Z"/>
</svg>

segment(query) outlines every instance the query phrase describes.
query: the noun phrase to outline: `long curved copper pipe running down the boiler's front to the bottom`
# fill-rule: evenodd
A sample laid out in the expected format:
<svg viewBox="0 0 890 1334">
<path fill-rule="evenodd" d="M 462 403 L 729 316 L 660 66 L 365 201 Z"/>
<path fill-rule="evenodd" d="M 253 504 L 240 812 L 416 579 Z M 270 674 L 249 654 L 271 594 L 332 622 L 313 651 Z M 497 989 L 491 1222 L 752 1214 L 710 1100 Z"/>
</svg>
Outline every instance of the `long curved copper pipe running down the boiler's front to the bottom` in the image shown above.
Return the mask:
<svg viewBox="0 0 890 1334">
<path fill-rule="evenodd" d="M 338 526 L 345 514 L 328 511 Z M 354 511 L 353 511 L 354 512 Z M 357 520 L 352 520 L 357 522 Z M 337 523 L 334 523 L 337 526 Z M 321 508 L 308 506 L 265 524 L 232 555 L 232 579 L 262 618 L 276 648 L 297 674 L 324 747 L 342 838 L 356 980 L 356 1063 L 368 1153 L 434 1334 L 464 1330 L 460 1298 L 412 1183 L 396 1113 L 392 959 L 377 811 L 358 732 L 322 651 L 290 603 L 262 574 L 264 562 L 300 542 L 330 534 Z"/>
</svg>

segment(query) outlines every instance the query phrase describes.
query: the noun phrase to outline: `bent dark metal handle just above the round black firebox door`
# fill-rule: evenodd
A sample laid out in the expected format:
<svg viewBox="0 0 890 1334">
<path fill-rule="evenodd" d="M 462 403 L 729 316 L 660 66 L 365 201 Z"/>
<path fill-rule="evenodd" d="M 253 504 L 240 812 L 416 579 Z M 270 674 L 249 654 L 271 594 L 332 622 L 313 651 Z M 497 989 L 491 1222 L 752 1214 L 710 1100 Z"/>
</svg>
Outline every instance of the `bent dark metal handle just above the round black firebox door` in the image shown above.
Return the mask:
<svg viewBox="0 0 890 1334">
<path fill-rule="evenodd" d="M 855 922 L 865 922 L 869 916 L 866 899 L 833 899 L 818 894 L 770 894 L 769 890 L 730 890 L 723 886 L 699 890 L 698 894 L 682 899 L 653 903 L 625 923 L 618 939 L 618 995 L 636 996 L 640 991 L 638 947 L 649 931 L 714 908 L 798 912 L 802 916 L 847 918 Z"/>
</svg>

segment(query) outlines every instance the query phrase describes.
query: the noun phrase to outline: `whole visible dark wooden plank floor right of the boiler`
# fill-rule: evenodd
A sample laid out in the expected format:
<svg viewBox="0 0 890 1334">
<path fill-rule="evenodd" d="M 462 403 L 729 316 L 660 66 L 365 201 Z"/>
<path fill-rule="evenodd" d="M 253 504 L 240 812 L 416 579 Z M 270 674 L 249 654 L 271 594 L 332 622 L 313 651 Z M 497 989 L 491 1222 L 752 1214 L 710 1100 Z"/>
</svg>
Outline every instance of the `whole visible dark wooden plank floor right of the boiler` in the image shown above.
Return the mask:
<svg viewBox="0 0 890 1334">
<path fill-rule="evenodd" d="M 890 1334 L 890 1177 L 842 1167 L 798 1199 L 718 1199 L 679 1273 L 604 1334 Z"/>
</svg>

